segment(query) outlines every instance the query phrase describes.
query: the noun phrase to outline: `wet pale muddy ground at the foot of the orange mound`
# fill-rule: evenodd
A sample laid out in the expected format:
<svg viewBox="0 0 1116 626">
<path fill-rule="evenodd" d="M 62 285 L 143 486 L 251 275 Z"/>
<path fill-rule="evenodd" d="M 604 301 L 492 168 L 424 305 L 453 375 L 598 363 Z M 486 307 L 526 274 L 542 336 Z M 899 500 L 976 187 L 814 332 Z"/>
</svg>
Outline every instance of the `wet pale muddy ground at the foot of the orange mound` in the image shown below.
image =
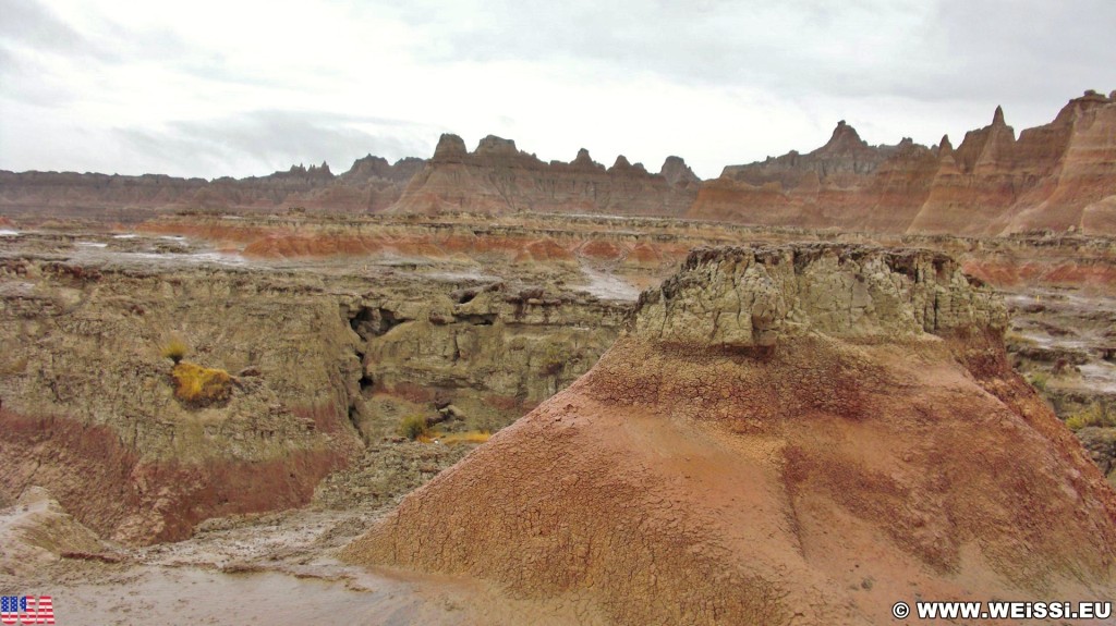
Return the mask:
<svg viewBox="0 0 1116 626">
<path fill-rule="evenodd" d="M 0 575 L 0 595 L 49 595 L 57 623 L 74 626 L 578 623 L 568 609 L 509 600 L 475 581 L 334 558 L 387 508 L 210 520 L 186 541 L 105 552 L 119 563 L 62 558 Z"/>
</svg>

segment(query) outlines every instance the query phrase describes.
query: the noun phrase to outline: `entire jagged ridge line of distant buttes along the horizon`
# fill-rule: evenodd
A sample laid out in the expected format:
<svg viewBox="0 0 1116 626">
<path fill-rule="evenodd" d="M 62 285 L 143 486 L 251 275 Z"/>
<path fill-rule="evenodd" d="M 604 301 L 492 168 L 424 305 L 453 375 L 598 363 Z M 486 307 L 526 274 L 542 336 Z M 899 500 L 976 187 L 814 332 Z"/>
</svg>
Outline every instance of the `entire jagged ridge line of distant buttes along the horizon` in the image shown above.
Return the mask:
<svg viewBox="0 0 1116 626">
<path fill-rule="evenodd" d="M 281 211 L 343 214 L 587 213 L 881 233 L 1001 235 L 1029 229 L 1116 234 L 1116 92 L 1086 91 L 1047 125 L 1016 136 L 1002 107 L 954 147 L 903 138 L 872 146 L 840 120 L 820 148 L 729 165 L 702 182 L 680 157 L 658 174 L 580 149 L 545 163 L 489 135 L 470 151 L 442 135 L 427 159 L 372 155 L 339 176 L 295 166 L 243 179 L 0 172 L 0 211 Z M 137 218 L 142 218 L 137 217 Z"/>
</svg>

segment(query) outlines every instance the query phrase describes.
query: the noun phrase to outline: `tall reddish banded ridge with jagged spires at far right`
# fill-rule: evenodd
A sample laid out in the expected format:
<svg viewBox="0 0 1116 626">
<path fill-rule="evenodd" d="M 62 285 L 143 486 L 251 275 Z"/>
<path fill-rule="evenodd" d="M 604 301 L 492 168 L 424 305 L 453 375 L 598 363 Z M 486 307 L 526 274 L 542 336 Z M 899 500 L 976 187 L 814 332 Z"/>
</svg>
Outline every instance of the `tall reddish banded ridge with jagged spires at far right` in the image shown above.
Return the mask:
<svg viewBox="0 0 1116 626">
<path fill-rule="evenodd" d="M 868 146 L 844 121 L 807 155 L 730 166 L 705 183 L 690 217 L 868 232 L 999 235 L 1035 228 L 1113 234 L 1116 98 L 1070 100 L 1016 138 L 1003 110 L 926 148 Z"/>
</svg>

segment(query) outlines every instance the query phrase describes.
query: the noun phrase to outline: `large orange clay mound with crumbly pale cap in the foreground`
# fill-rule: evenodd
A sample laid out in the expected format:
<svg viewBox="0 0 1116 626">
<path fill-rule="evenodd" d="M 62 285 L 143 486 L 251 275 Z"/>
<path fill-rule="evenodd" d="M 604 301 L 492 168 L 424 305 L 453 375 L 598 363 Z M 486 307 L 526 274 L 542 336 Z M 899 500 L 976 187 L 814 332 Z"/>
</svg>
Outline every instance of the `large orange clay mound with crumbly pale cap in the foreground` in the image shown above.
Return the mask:
<svg viewBox="0 0 1116 626">
<path fill-rule="evenodd" d="M 1116 493 L 1007 365 L 1004 322 L 932 252 L 695 251 L 591 371 L 343 558 L 615 624 L 1110 598 Z"/>
</svg>

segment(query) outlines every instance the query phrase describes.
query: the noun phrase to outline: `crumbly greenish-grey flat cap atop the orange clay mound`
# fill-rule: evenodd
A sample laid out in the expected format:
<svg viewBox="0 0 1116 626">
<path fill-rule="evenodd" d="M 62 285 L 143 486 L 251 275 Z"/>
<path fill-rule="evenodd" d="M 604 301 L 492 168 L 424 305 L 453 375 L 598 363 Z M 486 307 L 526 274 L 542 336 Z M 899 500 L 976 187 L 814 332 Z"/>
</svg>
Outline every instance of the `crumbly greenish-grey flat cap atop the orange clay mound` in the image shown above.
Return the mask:
<svg viewBox="0 0 1116 626">
<path fill-rule="evenodd" d="M 781 339 L 1001 333 L 1003 303 L 949 256 L 838 244 L 699 248 L 639 297 L 628 334 L 671 344 L 770 348 Z"/>
</svg>

